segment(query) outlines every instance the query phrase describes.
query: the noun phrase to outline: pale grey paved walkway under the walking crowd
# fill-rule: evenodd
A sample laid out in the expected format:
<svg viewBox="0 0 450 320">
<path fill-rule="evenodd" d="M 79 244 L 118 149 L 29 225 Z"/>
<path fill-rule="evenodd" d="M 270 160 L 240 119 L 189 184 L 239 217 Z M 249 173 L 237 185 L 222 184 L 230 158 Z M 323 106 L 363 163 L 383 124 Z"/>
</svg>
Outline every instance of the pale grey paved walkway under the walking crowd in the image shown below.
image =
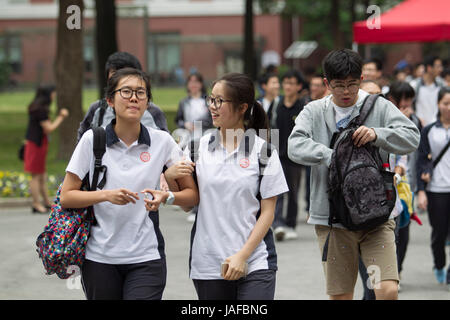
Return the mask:
<svg viewBox="0 0 450 320">
<path fill-rule="evenodd" d="M 47 222 L 28 208 L 0 208 L 0 299 L 84 299 L 79 283 L 46 276 L 35 252 L 35 240 Z M 325 295 L 321 257 L 314 228 L 299 217 L 297 240 L 277 243 L 276 299 L 322 300 Z M 410 244 L 402 273 L 400 299 L 450 300 L 450 292 L 436 283 L 432 272 L 430 227 L 411 226 Z M 167 286 L 164 299 L 196 299 L 188 278 L 191 224 L 177 208 L 162 208 L 160 224 L 166 241 Z M 358 279 L 355 299 L 362 297 Z"/>
</svg>

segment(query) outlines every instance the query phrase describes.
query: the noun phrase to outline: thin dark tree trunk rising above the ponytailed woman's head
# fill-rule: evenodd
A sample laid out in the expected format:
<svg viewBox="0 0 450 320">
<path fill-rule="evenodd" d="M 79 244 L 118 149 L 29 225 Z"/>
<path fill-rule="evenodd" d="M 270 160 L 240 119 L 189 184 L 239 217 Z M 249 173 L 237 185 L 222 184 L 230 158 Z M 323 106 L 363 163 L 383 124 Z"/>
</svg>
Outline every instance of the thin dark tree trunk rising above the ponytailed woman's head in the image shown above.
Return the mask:
<svg viewBox="0 0 450 320">
<path fill-rule="evenodd" d="M 256 55 L 253 39 L 253 0 L 245 1 L 244 73 L 256 80 Z"/>
</svg>

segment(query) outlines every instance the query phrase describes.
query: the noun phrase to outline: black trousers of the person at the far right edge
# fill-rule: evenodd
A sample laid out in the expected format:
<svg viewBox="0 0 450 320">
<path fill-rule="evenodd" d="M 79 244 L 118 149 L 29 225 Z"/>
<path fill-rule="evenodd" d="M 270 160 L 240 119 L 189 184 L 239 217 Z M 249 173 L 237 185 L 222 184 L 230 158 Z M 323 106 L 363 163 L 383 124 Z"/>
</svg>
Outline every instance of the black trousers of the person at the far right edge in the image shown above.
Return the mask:
<svg viewBox="0 0 450 320">
<path fill-rule="evenodd" d="M 431 250 L 434 267 L 445 267 L 445 242 L 450 228 L 450 193 L 427 192 L 428 218 L 431 225 Z M 447 273 L 447 280 L 450 273 Z"/>
</svg>

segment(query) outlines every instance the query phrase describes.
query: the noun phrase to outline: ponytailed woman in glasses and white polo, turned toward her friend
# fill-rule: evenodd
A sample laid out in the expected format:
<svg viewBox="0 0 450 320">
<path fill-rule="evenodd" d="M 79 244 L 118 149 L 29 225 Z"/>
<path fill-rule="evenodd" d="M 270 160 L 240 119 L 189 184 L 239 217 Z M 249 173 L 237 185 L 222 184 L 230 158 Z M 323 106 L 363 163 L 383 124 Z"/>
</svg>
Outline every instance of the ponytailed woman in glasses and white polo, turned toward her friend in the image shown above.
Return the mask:
<svg viewBox="0 0 450 320">
<path fill-rule="evenodd" d="M 251 79 L 238 73 L 214 82 L 207 104 L 219 129 L 198 146 L 201 200 L 191 234 L 190 277 L 201 300 L 273 299 L 277 256 L 270 226 L 277 196 L 288 187 L 277 151 L 271 148 L 264 158 L 267 144 L 256 135 L 267 129 L 266 114 Z M 177 190 L 174 179 L 190 176 L 192 168 L 185 161 L 166 171 L 171 190 Z"/>
</svg>

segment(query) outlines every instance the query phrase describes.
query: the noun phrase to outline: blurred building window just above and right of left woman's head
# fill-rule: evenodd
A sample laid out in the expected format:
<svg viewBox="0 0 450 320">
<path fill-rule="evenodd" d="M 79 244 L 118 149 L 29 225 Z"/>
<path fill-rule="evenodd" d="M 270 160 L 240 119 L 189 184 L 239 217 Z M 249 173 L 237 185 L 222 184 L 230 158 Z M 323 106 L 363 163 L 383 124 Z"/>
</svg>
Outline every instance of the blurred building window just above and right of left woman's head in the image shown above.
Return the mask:
<svg viewBox="0 0 450 320">
<path fill-rule="evenodd" d="M 151 34 L 148 48 L 149 73 L 159 83 L 173 82 L 181 66 L 180 35 Z"/>
</svg>

